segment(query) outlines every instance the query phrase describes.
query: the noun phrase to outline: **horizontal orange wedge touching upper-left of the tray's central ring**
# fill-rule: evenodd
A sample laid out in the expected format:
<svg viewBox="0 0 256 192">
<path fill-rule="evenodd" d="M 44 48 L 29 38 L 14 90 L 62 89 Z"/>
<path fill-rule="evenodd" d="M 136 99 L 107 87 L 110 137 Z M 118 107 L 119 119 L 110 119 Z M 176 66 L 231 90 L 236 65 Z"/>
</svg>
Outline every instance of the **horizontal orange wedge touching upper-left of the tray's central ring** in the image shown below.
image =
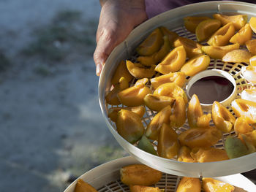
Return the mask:
<svg viewBox="0 0 256 192">
<path fill-rule="evenodd" d="M 160 75 L 159 77 L 154 77 L 150 79 L 151 88 L 156 89 L 159 85 L 162 85 L 166 82 L 175 82 L 179 87 L 183 87 L 186 82 L 186 75 L 183 72 L 175 72 Z"/>
</svg>

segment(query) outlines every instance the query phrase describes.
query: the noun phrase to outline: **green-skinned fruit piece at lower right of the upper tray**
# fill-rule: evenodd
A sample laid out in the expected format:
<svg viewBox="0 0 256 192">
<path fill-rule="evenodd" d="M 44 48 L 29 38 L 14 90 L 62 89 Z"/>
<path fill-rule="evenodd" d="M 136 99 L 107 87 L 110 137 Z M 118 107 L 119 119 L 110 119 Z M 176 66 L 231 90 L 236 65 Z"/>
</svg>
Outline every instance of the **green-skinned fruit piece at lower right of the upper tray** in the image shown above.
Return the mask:
<svg viewBox="0 0 256 192">
<path fill-rule="evenodd" d="M 238 158 L 248 154 L 246 146 L 237 137 L 227 137 L 224 147 L 228 158 Z"/>
</svg>

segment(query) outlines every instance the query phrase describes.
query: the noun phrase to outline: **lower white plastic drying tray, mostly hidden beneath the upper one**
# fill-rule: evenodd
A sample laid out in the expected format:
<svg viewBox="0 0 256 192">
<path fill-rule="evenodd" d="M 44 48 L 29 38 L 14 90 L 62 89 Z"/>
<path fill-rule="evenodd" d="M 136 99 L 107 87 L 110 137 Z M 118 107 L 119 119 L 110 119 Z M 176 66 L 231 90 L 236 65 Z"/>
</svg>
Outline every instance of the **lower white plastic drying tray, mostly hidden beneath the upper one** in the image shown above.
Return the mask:
<svg viewBox="0 0 256 192">
<path fill-rule="evenodd" d="M 129 192 L 129 187 L 120 181 L 119 170 L 129 164 L 139 164 L 132 156 L 118 158 L 106 164 L 97 166 L 89 172 L 81 175 L 78 179 L 84 180 L 99 192 Z M 243 188 L 247 192 L 255 192 L 256 185 L 241 174 L 233 174 L 226 177 L 214 177 L 214 179 L 230 183 L 238 188 Z M 165 189 L 165 192 L 175 192 L 180 177 L 171 174 L 162 174 L 162 179 L 156 184 L 157 187 Z M 75 190 L 75 180 L 64 192 L 73 192 Z"/>
</svg>

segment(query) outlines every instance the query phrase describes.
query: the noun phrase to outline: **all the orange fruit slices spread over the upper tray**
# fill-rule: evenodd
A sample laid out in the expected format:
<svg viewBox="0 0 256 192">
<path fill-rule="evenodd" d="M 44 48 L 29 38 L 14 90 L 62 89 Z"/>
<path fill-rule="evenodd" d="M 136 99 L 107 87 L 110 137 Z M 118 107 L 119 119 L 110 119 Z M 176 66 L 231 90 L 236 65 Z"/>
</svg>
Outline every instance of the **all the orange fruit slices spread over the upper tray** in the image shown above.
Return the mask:
<svg viewBox="0 0 256 192">
<path fill-rule="evenodd" d="M 208 68 L 211 58 L 248 65 L 243 74 L 255 72 L 256 18 L 247 23 L 247 15 L 214 14 L 184 18 L 184 26 L 195 33 L 197 42 L 165 27 L 155 28 L 136 47 L 136 61 L 118 64 L 113 88 L 105 96 L 108 117 L 127 142 L 163 158 L 210 162 L 255 153 L 256 100 L 235 99 L 235 115 L 215 101 L 205 114 L 197 96 L 188 101 L 183 88 L 188 77 Z M 250 93 L 255 98 L 255 92 L 246 91 Z M 154 115 L 145 123 L 146 109 Z M 189 128 L 180 131 L 186 121 Z M 222 138 L 233 132 L 236 137 Z M 224 147 L 214 147 L 221 139 Z"/>
</svg>

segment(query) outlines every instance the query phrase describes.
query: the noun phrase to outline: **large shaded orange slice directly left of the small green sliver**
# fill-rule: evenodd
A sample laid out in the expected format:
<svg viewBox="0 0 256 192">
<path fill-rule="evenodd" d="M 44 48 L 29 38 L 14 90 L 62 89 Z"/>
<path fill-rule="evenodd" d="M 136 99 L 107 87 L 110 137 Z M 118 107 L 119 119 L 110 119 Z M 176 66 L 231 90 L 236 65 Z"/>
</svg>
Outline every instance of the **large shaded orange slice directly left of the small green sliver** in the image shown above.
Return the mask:
<svg viewBox="0 0 256 192">
<path fill-rule="evenodd" d="M 117 114 L 116 131 L 127 142 L 134 144 L 143 136 L 145 128 L 138 114 L 129 110 L 120 110 Z"/>
</svg>

